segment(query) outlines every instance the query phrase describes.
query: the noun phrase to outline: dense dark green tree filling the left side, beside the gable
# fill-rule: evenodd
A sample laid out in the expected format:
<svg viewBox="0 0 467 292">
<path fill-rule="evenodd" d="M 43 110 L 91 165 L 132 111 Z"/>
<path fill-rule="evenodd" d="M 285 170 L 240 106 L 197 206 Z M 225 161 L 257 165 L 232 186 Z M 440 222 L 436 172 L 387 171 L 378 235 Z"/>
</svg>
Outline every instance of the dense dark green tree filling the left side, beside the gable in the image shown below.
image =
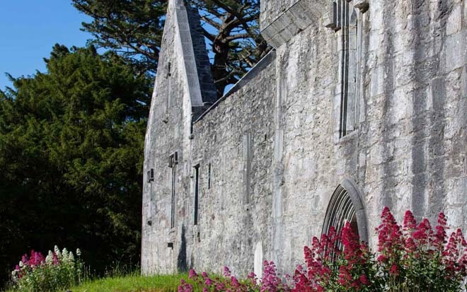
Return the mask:
<svg viewBox="0 0 467 292">
<path fill-rule="evenodd" d="M 151 81 L 116 54 L 56 45 L 47 73 L 0 91 L 0 267 L 80 247 L 93 269 L 139 261 Z"/>
</svg>

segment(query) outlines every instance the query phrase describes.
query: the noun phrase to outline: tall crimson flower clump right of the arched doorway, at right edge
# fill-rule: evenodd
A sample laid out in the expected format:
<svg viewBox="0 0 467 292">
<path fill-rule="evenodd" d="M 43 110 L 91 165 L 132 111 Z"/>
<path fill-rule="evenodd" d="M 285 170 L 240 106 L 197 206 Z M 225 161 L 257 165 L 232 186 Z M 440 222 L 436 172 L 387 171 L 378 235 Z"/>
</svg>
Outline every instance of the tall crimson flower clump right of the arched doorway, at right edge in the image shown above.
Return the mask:
<svg viewBox="0 0 467 292">
<path fill-rule="evenodd" d="M 467 243 L 460 229 L 448 237 L 444 213 L 439 214 L 434 230 L 427 218 L 417 223 L 410 211 L 405 212 L 402 226 L 387 207 L 381 219 L 383 223 L 376 228 L 379 233 L 377 264 L 388 281 L 422 291 L 459 289 L 467 276 Z"/>
</svg>

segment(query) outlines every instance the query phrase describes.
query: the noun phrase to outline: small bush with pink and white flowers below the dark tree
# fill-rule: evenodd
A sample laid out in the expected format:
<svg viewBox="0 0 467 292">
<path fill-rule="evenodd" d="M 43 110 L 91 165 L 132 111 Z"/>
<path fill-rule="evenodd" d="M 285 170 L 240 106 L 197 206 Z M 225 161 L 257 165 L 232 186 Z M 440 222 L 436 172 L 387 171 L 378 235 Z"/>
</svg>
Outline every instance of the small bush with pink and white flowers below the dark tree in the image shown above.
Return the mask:
<svg viewBox="0 0 467 292">
<path fill-rule="evenodd" d="M 30 256 L 23 255 L 21 261 L 11 272 L 13 286 L 18 291 L 59 291 L 79 284 L 83 280 L 81 251 L 73 252 L 64 248 L 49 250 L 47 257 L 31 250 Z"/>
</svg>

